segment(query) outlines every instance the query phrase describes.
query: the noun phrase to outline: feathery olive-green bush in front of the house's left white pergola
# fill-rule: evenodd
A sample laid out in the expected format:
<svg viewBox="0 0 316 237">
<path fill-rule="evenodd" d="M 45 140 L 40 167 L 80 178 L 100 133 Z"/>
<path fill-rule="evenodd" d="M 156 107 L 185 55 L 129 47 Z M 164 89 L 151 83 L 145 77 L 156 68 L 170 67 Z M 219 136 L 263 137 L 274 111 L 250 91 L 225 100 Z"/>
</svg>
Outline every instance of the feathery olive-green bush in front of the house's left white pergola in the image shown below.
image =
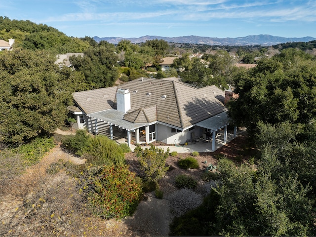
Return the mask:
<svg viewBox="0 0 316 237">
<path fill-rule="evenodd" d="M 89 137 L 82 153 L 86 153 L 87 159 L 94 165 L 123 164 L 124 153 L 118 144 L 104 135 Z"/>
</svg>

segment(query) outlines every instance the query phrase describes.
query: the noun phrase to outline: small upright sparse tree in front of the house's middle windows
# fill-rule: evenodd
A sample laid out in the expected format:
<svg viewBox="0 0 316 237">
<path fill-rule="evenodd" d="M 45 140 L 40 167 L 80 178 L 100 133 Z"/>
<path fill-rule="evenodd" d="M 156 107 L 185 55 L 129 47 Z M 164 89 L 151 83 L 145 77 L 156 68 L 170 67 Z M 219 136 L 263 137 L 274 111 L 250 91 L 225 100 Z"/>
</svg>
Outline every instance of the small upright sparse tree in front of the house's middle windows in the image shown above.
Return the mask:
<svg viewBox="0 0 316 237">
<path fill-rule="evenodd" d="M 169 166 L 165 166 L 166 159 L 169 156 L 169 148 L 164 152 L 163 149 L 155 146 L 145 150 L 136 147 L 135 154 L 139 158 L 140 168 L 143 171 L 144 179 L 147 181 L 161 179 L 169 169 Z"/>
</svg>

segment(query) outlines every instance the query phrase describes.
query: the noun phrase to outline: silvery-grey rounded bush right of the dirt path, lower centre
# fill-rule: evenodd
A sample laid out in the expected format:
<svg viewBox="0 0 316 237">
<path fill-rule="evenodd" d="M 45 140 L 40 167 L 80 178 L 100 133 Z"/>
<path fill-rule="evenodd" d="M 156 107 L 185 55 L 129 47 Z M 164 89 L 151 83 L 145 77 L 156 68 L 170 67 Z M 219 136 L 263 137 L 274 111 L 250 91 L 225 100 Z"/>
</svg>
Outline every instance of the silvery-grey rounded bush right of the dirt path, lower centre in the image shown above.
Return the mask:
<svg viewBox="0 0 316 237">
<path fill-rule="evenodd" d="M 181 216 L 188 210 L 197 208 L 202 204 L 203 197 L 191 189 L 180 189 L 172 193 L 169 197 L 171 213 Z"/>
</svg>

